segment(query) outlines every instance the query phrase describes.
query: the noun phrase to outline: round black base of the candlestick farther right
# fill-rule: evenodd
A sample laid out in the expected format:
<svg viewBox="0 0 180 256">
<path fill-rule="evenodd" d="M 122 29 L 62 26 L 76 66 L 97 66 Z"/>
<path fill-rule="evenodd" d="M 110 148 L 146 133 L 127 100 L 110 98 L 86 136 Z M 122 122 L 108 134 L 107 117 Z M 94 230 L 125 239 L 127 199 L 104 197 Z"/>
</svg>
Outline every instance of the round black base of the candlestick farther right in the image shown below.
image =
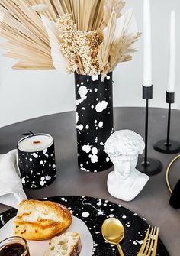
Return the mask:
<svg viewBox="0 0 180 256">
<path fill-rule="evenodd" d="M 161 153 L 175 154 L 180 152 L 180 143 L 170 140 L 167 144 L 166 140 L 161 140 L 153 144 L 153 148 Z"/>
</svg>

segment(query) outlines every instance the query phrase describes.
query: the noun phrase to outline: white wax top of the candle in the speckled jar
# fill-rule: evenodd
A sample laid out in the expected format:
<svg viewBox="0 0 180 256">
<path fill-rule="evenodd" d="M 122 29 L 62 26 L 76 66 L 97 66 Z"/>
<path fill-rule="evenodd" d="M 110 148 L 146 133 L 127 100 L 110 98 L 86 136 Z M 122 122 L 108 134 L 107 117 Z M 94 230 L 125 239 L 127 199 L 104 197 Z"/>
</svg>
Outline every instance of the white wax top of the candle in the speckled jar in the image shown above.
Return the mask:
<svg viewBox="0 0 180 256">
<path fill-rule="evenodd" d="M 53 138 L 49 134 L 34 134 L 27 138 L 22 138 L 18 142 L 18 149 L 24 152 L 43 151 L 53 144 Z"/>
</svg>

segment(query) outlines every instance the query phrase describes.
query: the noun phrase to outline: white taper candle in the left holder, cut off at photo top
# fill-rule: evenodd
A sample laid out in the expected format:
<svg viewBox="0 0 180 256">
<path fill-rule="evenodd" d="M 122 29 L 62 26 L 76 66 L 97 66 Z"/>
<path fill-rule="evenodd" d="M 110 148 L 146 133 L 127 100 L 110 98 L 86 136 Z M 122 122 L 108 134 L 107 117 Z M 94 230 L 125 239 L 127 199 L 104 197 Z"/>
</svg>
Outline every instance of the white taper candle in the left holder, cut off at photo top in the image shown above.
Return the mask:
<svg viewBox="0 0 180 256">
<path fill-rule="evenodd" d="M 143 86 L 152 86 L 150 1 L 143 2 Z"/>
</svg>

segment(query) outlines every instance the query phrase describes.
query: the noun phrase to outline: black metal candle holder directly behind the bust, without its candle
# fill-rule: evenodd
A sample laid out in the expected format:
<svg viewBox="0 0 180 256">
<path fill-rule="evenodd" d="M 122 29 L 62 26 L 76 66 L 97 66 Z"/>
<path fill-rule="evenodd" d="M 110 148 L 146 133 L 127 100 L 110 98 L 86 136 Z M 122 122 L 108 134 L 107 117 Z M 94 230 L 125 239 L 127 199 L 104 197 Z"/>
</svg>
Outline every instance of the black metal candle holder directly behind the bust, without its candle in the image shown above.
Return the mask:
<svg viewBox="0 0 180 256">
<path fill-rule="evenodd" d="M 147 157 L 148 146 L 148 118 L 149 118 L 149 99 L 153 99 L 153 86 L 143 86 L 143 99 L 146 99 L 145 116 L 145 150 L 144 157 L 140 157 L 137 162 L 137 170 L 149 176 L 160 173 L 163 169 L 162 163 L 156 158 Z"/>
</svg>

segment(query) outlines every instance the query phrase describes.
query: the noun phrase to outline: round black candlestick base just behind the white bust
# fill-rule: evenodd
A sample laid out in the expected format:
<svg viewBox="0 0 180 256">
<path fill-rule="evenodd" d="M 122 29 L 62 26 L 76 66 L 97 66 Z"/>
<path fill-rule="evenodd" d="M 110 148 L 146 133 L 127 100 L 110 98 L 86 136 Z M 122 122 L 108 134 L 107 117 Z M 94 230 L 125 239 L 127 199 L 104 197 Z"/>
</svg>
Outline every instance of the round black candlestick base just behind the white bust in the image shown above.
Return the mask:
<svg viewBox="0 0 180 256">
<path fill-rule="evenodd" d="M 148 176 L 153 176 L 163 170 L 162 163 L 155 158 L 147 158 L 147 164 L 144 163 L 144 157 L 140 157 L 137 162 L 137 170 Z"/>
</svg>

